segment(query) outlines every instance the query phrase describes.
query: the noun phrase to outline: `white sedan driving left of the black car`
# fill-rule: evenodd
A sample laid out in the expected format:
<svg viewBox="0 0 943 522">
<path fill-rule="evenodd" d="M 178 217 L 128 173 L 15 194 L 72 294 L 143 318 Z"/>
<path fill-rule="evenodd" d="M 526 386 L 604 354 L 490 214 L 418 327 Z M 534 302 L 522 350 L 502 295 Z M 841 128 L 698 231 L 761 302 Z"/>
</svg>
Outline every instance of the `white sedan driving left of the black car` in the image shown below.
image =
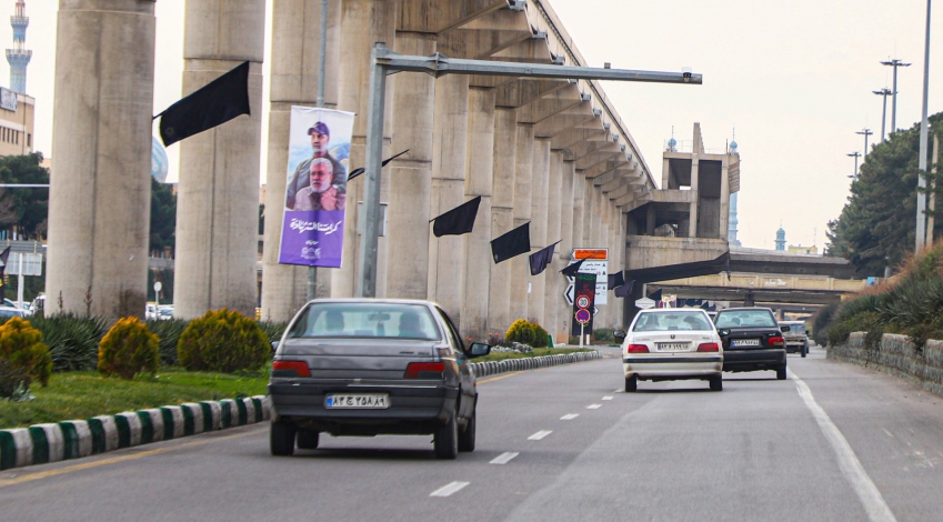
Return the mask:
<svg viewBox="0 0 943 522">
<path fill-rule="evenodd" d="M 622 341 L 625 391 L 639 380 L 709 381 L 723 390 L 723 345 L 708 313 L 698 309 L 652 309 L 635 315 Z"/>
</svg>

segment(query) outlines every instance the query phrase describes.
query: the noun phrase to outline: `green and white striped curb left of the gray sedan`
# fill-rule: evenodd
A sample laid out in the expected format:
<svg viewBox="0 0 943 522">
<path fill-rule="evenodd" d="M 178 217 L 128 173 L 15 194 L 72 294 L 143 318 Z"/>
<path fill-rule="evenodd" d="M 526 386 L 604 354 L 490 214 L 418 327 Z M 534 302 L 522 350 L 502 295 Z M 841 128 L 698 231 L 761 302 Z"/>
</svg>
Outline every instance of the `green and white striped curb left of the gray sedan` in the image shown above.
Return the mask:
<svg viewBox="0 0 943 522">
<path fill-rule="evenodd" d="M 269 420 L 270 408 L 265 395 L 255 395 L 0 430 L 0 470 L 253 424 Z"/>
</svg>

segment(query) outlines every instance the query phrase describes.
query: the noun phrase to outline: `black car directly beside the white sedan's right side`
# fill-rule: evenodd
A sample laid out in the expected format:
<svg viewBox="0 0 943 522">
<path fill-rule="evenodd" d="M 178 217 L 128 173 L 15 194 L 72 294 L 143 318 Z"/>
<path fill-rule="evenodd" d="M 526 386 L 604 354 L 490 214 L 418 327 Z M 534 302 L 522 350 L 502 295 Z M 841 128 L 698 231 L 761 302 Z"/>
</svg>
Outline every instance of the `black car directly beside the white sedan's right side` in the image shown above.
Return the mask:
<svg viewBox="0 0 943 522">
<path fill-rule="evenodd" d="M 786 347 L 773 311 L 768 308 L 730 308 L 714 320 L 723 341 L 723 371 L 753 372 L 774 370 L 776 379 L 786 378 Z"/>
</svg>

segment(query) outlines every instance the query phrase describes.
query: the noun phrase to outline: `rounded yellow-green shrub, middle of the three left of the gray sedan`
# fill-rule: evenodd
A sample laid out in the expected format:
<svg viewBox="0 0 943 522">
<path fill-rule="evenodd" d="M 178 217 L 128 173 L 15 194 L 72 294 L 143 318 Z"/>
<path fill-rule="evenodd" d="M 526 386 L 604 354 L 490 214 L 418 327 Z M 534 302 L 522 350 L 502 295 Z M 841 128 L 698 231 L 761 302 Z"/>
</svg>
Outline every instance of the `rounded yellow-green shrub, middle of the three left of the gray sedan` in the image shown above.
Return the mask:
<svg viewBox="0 0 943 522">
<path fill-rule="evenodd" d="M 134 379 L 136 373 L 157 372 L 158 337 L 138 318 L 120 319 L 98 347 L 98 371 L 104 377 Z"/>
</svg>

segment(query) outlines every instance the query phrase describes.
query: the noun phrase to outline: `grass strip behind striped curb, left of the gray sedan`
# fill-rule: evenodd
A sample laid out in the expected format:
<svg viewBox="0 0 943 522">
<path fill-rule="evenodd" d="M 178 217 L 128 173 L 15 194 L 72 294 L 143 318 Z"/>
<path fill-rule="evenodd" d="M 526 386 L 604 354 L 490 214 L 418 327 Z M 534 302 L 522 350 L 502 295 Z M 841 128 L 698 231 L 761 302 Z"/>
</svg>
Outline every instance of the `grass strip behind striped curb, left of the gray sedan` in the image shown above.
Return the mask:
<svg viewBox="0 0 943 522">
<path fill-rule="evenodd" d="M 36 398 L 32 401 L 0 400 L 0 429 L 89 419 L 184 402 L 263 395 L 268 382 L 267 370 L 222 374 L 162 368 L 154 378 L 141 375 L 133 381 L 104 378 L 97 372 L 56 373 L 47 388 L 31 388 L 30 394 Z"/>
</svg>

